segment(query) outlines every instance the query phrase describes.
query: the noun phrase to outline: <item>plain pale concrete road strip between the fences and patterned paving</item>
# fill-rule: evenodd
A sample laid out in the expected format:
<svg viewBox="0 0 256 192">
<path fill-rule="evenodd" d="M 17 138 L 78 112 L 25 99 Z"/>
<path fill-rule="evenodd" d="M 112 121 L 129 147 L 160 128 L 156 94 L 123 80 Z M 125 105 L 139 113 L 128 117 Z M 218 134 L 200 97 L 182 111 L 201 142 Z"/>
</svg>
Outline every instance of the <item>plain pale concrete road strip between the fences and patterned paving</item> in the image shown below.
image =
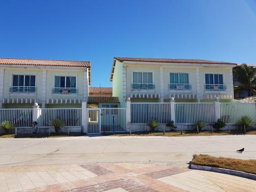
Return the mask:
<svg viewBox="0 0 256 192">
<path fill-rule="evenodd" d="M 236 153 L 243 147 L 244 153 Z M 195 153 L 256 159 L 256 136 L 0 139 L 0 166 L 162 162 L 186 167 Z"/>
</svg>

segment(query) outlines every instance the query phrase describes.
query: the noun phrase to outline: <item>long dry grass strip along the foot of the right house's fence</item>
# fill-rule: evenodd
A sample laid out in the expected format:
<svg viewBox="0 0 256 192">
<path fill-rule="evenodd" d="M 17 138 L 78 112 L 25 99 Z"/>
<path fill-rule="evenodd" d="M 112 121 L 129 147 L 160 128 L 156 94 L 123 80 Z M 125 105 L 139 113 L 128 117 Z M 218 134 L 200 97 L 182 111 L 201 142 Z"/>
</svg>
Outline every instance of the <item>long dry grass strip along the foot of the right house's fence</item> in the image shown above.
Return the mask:
<svg viewBox="0 0 256 192">
<path fill-rule="evenodd" d="M 106 136 L 130 136 L 129 133 L 105 133 L 103 135 Z M 173 132 L 165 132 L 165 134 L 163 134 L 163 132 L 133 132 L 131 134 L 131 136 L 165 136 L 165 137 L 186 137 L 186 136 L 218 136 L 218 135 L 245 135 L 245 133 L 243 131 L 237 131 L 237 130 L 232 130 L 231 133 L 229 134 L 228 131 L 220 131 L 220 132 L 214 132 L 211 133 L 210 131 L 201 131 L 199 134 L 197 134 L 197 131 L 195 130 L 188 130 L 188 131 L 183 131 L 183 134 L 181 135 L 180 131 L 173 131 Z M 250 130 L 248 132 L 246 132 L 246 135 L 256 135 L 256 130 Z"/>
</svg>

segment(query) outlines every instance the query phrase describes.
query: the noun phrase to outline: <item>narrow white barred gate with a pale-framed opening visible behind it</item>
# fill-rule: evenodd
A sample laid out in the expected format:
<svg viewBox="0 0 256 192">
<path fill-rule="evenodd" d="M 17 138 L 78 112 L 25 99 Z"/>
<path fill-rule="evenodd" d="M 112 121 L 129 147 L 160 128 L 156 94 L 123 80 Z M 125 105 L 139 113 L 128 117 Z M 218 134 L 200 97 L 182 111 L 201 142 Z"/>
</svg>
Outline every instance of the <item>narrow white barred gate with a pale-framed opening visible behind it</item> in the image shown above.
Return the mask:
<svg viewBox="0 0 256 192">
<path fill-rule="evenodd" d="M 88 114 L 88 134 L 100 134 L 100 117 L 101 110 L 98 108 L 87 109 Z"/>
</svg>

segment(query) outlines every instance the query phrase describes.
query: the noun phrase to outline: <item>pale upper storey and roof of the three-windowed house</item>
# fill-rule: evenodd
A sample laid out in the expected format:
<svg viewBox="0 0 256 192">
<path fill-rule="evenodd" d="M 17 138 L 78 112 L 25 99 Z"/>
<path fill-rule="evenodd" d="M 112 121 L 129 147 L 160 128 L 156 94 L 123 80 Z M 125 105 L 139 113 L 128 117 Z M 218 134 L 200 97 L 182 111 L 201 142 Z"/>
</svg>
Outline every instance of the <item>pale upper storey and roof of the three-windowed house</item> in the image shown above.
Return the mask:
<svg viewBox="0 0 256 192">
<path fill-rule="evenodd" d="M 233 99 L 236 63 L 199 60 L 115 57 L 110 80 L 121 107 L 132 102 L 209 102 Z"/>
</svg>

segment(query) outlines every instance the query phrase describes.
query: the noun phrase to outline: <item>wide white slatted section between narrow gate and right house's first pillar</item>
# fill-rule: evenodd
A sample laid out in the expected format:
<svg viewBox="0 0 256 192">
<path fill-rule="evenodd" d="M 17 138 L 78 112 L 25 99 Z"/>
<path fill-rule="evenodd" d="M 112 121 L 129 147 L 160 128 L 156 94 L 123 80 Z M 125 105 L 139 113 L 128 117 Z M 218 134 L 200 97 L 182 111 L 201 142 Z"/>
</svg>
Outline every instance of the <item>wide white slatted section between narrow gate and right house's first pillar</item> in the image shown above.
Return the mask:
<svg viewBox="0 0 256 192">
<path fill-rule="evenodd" d="M 101 132 L 126 132 L 126 109 L 101 109 Z"/>
</svg>

